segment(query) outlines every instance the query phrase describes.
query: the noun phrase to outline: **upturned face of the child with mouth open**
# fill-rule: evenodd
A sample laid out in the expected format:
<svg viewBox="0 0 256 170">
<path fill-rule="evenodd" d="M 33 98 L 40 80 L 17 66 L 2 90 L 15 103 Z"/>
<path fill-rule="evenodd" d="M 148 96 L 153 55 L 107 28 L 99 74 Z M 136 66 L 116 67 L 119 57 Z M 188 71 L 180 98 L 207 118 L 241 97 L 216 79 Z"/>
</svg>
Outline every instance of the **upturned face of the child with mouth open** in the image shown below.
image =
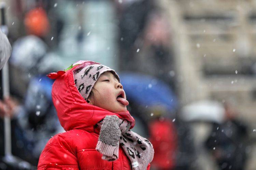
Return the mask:
<svg viewBox="0 0 256 170">
<path fill-rule="evenodd" d="M 93 105 L 104 108 L 113 113 L 126 113 L 126 105 L 129 103 L 126 102 L 126 104 L 122 104 L 117 101 L 117 97 L 120 94 L 122 94 L 122 98 L 126 100 L 123 86 L 110 71 L 104 72 L 100 75 L 92 91 L 93 95 L 90 95 L 87 100 Z"/>
</svg>

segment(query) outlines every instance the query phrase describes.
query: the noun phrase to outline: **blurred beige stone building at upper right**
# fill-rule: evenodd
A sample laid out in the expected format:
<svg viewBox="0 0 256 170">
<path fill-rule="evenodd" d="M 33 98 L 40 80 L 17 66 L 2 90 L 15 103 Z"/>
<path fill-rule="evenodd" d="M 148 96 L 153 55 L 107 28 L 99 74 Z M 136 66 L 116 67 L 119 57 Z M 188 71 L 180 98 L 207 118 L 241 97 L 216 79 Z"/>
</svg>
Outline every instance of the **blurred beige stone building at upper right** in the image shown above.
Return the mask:
<svg viewBox="0 0 256 170">
<path fill-rule="evenodd" d="M 174 45 L 182 105 L 202 99 L 229 102 L 255 138 L 256 1 L 164 0 Z M 255 144 L 247 169 L 255 169 Z"/>
</svg>

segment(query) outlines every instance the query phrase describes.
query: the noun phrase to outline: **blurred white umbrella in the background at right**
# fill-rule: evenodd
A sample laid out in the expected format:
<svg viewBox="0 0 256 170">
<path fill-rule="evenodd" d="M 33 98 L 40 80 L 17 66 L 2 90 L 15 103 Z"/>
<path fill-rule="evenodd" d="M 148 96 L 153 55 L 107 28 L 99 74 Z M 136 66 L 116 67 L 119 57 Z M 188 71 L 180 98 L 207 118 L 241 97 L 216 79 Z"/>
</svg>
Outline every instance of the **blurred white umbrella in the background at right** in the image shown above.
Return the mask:
<svg viewBox="0 0 256 170">
<path fill-rule="evenodd" d="M 185 121 L 210 121 L 221 123 L 224 120 L 225 109 L 217 101 L 197 101 L 184 106 L 181 118 Z"/>
</svg>

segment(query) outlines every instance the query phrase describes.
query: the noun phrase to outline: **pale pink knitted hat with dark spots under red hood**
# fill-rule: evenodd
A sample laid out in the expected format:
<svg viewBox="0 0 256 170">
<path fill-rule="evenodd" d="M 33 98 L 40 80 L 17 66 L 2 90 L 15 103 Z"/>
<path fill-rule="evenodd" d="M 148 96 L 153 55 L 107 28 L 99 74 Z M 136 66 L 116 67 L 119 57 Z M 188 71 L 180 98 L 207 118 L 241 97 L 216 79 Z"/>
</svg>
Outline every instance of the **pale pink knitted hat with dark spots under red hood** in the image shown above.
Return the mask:
<svg viewBox="0 0 256 170">
<path fill-rule="evenodd" d="M 85 100 L 89 97 L 91 89 L 100 75 L 106 71 L 111 71 L 118 82 L 120 82 L 119 76 L 116 74 L 115 70 L 101 64 L 88 65 L 82 68 L 78 67 L 73 71 L 75 86 Z"/>
</svg>

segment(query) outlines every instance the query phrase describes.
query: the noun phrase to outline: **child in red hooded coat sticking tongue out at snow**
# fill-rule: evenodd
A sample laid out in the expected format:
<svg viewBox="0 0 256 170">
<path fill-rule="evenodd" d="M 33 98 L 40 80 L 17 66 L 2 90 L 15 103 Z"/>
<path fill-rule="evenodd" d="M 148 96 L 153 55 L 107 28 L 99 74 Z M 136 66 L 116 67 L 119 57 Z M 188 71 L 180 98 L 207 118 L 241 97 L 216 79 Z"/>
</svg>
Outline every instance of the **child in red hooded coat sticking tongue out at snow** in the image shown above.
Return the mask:
<svg viewBox="0 0 256 170">
<path fill-rule="evenodd" d="M 125 92 L 116 72 L 91 61 L 48 74 L 56 79 L 52 98 L 65 133 L 42 151 L 42 169 L 150 169 L 154 149 L 132 132 Z"/>
</svg>

